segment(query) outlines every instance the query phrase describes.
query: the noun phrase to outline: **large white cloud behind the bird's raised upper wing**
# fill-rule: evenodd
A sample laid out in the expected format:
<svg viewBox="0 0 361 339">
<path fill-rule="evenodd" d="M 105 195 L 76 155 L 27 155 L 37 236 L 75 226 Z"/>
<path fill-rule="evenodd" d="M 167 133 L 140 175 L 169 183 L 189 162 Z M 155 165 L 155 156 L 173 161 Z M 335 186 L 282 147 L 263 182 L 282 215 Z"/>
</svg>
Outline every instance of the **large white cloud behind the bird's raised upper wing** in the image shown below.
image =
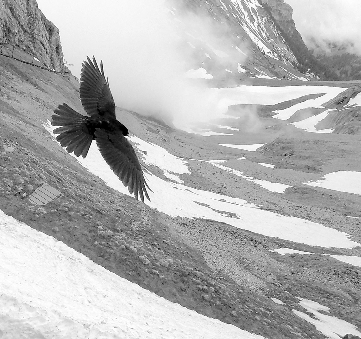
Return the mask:
<svg viewBox="0 0 361 339">
<path fill-rule="evenodd" d="M 231 49 L 239 59 L 234 60 L 235 67 L 236 61 L 244 58 L 230 47 L 226 34 L 219 34 L 227 30 L 225 25 L 220 27 L 212 18 L 180 14 L 180 9 L 166 8 L 164 0 L 64 0 L 56 10 L 48 0 L 38 3 L 60 29 L 64 56 L 74 64 L 69 67 L 74 75 L 79 77 L 87 55 L 94 55 L 98 63 L 103 59 L 117 106 L 168 122 L 184 124 L 217 114 L 217 99 L 204 82 L 185 76 L 197 63 L 197 68 L 202 66 L 199 49 L 187 42 L 203 41 L 215 50 Z M 204 60 L 210 60 L 203 54 Z M 206 70 L 212 74 L 212 69 Z"/>
</svg>

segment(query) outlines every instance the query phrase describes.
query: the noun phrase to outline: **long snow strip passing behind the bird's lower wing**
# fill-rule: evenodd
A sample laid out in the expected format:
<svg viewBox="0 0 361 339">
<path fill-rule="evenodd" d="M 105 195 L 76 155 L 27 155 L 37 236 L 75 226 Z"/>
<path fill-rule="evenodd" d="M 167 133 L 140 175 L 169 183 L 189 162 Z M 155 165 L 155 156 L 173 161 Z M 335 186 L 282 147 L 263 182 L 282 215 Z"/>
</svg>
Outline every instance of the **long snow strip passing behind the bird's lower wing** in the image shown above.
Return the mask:
<svg viewBox="0 0 361 339">
<path fill-rule="evenodd" d="M 43 126 L 52 134 L 53 126 L 49 121 Z M 130 140 L 135 141 L 135 147 L 138 147 L 140 151 L 147 151 L 147 155 L 144 154 L 146 164 L 154 164 L 164 173 L 174 175 L 175 179 L 178 178 L 174 180 L 177 182 L 170 182 L 152 174 L 145 174 L 154 192 L 154 194 L 149 192 L 151 202 L 146 203 L 152 208 L 157 208 L 158 211 L 174 217 L 212 219 L 265 236 L 279 237 L 312 246 L 345 248 L 360 246 L 350 240 L 346 233 L 321 224 L 264 211 L 243 199 L 184 186 L 179 183 L 181 179 L 177 175 L 190 174 L 184 160 L 171 155 L 160 146 L 147 143 L 137 137 L 132 137 Z M 61 147 L 60 144 L 59 147 Z M 160 158 L 159 165 L 157 165 L 158 158 Z M 91 173 L 103 179 L 109 187 L 130 195 L 128 189 L 106 164 L 96 143 L 92 143 L 86 158 L 79 157 L 77 160 Z"/>
</svg>

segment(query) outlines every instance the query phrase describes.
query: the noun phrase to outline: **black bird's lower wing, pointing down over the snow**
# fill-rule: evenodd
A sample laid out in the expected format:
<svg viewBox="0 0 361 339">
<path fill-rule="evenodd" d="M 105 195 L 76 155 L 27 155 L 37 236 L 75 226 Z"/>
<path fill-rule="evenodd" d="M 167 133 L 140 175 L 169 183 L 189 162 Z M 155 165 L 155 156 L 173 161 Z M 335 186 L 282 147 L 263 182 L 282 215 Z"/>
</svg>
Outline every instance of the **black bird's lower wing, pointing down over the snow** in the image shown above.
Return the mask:
<svg viewBox="0 0 361 339">
<path fill-rule="evenodd" d="M 149 195 L 145 186 L 149 188 L 145 182 L 142 168 L 139 160 L 134 152 L 130 142 L 120 133 L 111 133 L 103 129 L 96 128 L 95 140 L 99 147 L 99 151 L 107 164 L 128 187 L 130 194 L 134 194 L 138 200 L 138 194 L 142 202 L 144 195 L 149 199 Z M 149 188 L 150 191 L 152 191 Z M 144 195 L 143 195 L 144 192 Z"/>
</svg>

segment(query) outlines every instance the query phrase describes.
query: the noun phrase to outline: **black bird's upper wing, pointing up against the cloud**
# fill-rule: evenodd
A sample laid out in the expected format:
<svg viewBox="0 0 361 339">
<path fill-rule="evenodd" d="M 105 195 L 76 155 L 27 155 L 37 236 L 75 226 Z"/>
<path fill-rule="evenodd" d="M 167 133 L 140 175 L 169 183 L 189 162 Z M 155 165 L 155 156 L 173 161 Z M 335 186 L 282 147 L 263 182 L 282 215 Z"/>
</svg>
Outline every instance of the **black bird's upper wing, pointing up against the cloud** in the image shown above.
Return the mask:
<svg viewBox="0 0 361 339">
<path fill-rule="evenodd" d="M 84 110 L 90 116 L 107 116 L 115 118 L 115 103 L 110 92 L 108 77 L 105 79 L 103 61 L 100 69 L 93 56 L 93 62 L 87 56 L 88 61 L 82 64 L 80 76 L 80 100 Z"/>
</svg>

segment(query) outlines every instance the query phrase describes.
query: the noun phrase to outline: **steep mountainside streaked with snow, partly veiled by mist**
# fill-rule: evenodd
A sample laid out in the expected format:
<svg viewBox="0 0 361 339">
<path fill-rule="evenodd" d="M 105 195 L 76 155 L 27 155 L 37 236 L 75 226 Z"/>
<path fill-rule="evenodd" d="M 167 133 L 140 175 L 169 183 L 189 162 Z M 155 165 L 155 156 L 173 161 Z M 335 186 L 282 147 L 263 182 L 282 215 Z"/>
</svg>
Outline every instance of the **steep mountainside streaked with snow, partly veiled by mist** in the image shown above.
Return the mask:
<svg viewBox="0 0 361 339">
<path fill-rule="evenodd" d="M 173 6 L 169 11 L 193 50 L 194 68 L 206 71 L 199 77 L 228 82 L 245 77 L 313 78 L 293 67 L 297 59 L 260 1 L 192 0 Z M 202 17 L 207 25 L 195 25 L 192 15 Z"/>
</svg>

